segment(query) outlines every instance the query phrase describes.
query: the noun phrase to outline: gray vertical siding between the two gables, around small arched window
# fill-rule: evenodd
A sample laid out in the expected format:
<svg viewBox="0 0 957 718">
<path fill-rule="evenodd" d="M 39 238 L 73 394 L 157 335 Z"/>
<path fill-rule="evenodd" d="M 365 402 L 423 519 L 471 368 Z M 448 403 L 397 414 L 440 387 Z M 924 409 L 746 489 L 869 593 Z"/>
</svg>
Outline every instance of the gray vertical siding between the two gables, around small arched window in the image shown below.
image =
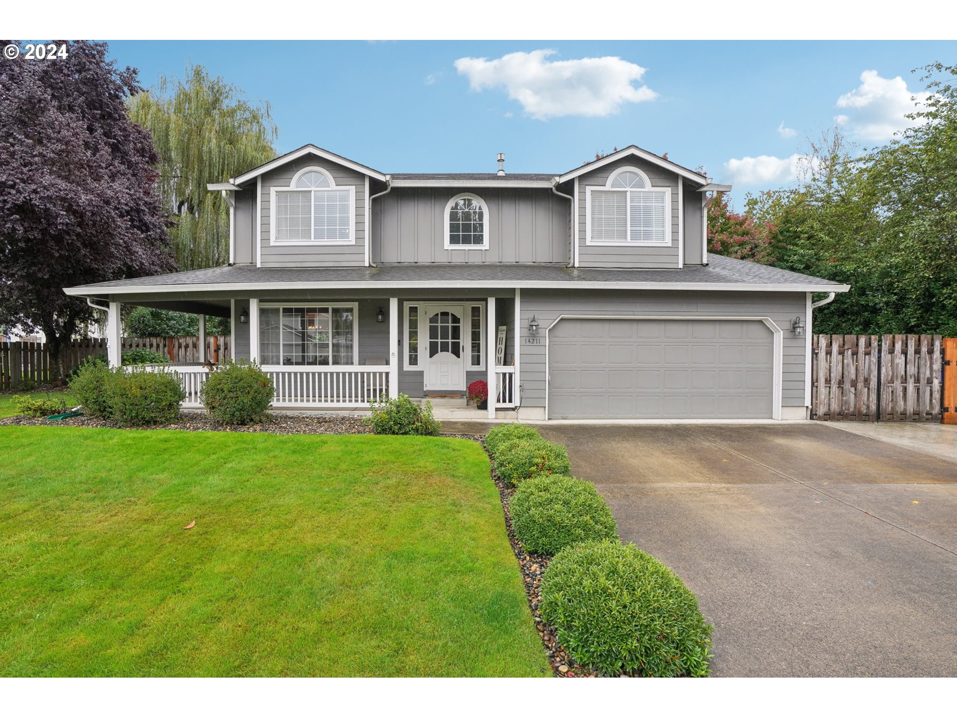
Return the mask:
<svg viewBox="0 0 957 718">
<path fill-rule="evenodd" d="M 466 191 L 488 206 L 487 250 L 445 249 L 445 207 Z M 565 264 L 570 204 L 539 189 L 393 189 L 372 203 L 372 261 Z"/>
</svg>

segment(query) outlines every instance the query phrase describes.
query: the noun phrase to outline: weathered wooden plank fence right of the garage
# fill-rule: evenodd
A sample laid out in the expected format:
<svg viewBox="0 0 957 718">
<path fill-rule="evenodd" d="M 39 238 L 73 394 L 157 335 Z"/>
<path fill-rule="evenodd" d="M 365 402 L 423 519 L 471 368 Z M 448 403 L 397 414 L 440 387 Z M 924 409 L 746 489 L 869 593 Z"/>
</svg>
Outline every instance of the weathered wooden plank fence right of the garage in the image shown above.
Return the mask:
<svg viewBox="0 0 957 718">
<path fill-rule="evenodd" d="M 939 334 L 817 334 L 812 338 L 812 418 L 940 421 Z"/>
</svg>

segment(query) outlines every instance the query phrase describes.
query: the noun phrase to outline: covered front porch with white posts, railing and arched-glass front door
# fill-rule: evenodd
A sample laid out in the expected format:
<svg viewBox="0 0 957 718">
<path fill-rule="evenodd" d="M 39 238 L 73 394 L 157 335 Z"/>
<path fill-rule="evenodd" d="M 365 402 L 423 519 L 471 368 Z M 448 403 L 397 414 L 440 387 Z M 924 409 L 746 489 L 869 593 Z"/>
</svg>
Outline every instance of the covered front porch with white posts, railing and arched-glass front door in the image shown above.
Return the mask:
<svg viewBox="0 0 957 718">
<path fill-rule="evenodd" d="M 121 364 L 122 306 L 141 304 L 198 314 L 200 347 L 205 347 L 206 317 L 229 317 L 233 356 L 255 361 L 270 376 L 275 409 L 367 410 L 384 394 L 406 393 L 435 398 L 439 416 L 443 405 L 456 405 L 452 414 L 460 418 L 468 385 L 481 379 L 489 387 L 487 408 L 470 411 L 476 418 L 495 418 L 521 404 L 515 330 L 521 290 L 488 294 L 216 292 L 179 294 L 176 300 L 114 296 L 102 308 L 109 314 L 111 366 Z M 175 371 L 187 394 L 183 406 L 202 408 L 200 392 L 216 365 L 201 354 L 194 363 L 150 369 Z"/>
</svg>

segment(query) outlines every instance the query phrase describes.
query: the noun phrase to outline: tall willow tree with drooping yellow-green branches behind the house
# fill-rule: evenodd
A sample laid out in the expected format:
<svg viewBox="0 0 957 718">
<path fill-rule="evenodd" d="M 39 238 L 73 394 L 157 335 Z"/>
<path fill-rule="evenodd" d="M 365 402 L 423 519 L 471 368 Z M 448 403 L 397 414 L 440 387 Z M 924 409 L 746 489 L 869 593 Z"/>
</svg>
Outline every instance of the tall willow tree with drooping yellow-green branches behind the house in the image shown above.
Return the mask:
<svg viewBox="0 0 957 718">
<path fill-rule="evenodd" d="M 130 98 L 130 118 L 153 136 L 169 239 L 181 270 L 229 261 L 229 204 L 207 183 L 225 182 L 276 157 L 268 102 L 251 102 L 201 65 L 186 80 L 163 77 Z"/>
</svg>

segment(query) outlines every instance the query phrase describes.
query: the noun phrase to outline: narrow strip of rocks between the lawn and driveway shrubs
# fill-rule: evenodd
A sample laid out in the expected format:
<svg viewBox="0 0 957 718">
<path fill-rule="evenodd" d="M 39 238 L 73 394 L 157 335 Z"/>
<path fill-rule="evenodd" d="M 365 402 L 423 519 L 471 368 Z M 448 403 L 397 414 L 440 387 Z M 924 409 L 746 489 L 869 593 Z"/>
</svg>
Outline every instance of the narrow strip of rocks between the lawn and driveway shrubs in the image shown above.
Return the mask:
<svg viewBox="0 0 957 718">
<path fill-rule="evenodd" d="M 460 438 L 471 438 L 478 441 L 482 448 L 485 448 L 485 442 L 482 437 L 458 435 Z M 487 450 L 486 450 L 487 451 Z M 562 646 L 555 637 L 555 630 L 542 619 L 539 612 L 539 604 L 542 602 L 542 575 L 548 567 L 548 558 L 546 556 L 537 556 L 527 553 L 519 540 L 515 537 L 515 529 L 512 527 L 512 515 L 509 510 L 508 501 L 515 489 L 501 481 L 495 470 L 495 459 L 490 455 L 492 462 L 492 481 L 499 489 L 499 498 L 501 499 L 501 509 L 505 514 L 505 529 L 508 531 L 508 540 L 512 544 L 512 551 L 519 561 L 519 569 L 522 572 L 522 578 L 525 584 L 525 595 L 528 596 L 528 607 L 531 609 L 532 617 L 535 620 L 535 628 L 538 631 L 539 638 L 545 646 L 545 653 L 548 655 L 548 662 L 551 663 L 552 670 L 558 678 L 593 678 L 597 674 L 583 665 L 579 665 L 571 658 L 565 647 Z"/>
</svg>

